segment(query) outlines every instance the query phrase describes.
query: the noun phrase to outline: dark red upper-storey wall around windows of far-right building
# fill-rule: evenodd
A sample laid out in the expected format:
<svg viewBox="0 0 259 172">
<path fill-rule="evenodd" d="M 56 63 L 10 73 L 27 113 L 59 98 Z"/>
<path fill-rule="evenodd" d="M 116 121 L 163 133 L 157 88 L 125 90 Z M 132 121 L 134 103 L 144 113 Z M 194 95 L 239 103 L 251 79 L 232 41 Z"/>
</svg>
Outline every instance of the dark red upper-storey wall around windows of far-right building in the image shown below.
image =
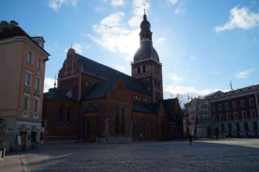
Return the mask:
<svg viewBox="0 0 259 172">
<path fill-rule="evenodd" d="M 250 104 L 249 104 L 250 98 L 253 98 L 254 106 L 250 106 Z M 245 107 L 241 107 L 241 100 L 244 100 Z M 236 101 L 236 109 L 233 109 L 233 104 L 232 104 L 233 101 Z M 226 110 L 225 103 L 228 103 L 229 110 Z M 222 111 L 219 111 L 219 106 L 218 106 L 219 104 L 221 104 L 221 106 L 222 106 Z M 212 112 L 212 106 L 213 105 L 215 106 L 215 112 Z M 258 112 L 257 112 L 257 107 L 256 107 L 256 99 L 255 99 L 254 94 L 213 102 L 213 103 L 211 103 L 212 120 L 213 120 L 213 115 L 216 115 L 217 121 L 220 121 L 219 114 L 223 114 L 223 118 L 224 118 L 224 121 L 225 121 L 225 120 L 227 120 L 226 113 L 228 113 L 228 112 L 230 113 L 231 120 L 234 120 L 234 112 L 238 112 L 238 118 L 243 119 L 242 111 L 246 111 L 247 118 L 249 119 L 249 118 L 251 118 L 250 110 L 252 110 L 252 109 L 255 110 L 256 117 L 258 118 Z"/>
</svg>

